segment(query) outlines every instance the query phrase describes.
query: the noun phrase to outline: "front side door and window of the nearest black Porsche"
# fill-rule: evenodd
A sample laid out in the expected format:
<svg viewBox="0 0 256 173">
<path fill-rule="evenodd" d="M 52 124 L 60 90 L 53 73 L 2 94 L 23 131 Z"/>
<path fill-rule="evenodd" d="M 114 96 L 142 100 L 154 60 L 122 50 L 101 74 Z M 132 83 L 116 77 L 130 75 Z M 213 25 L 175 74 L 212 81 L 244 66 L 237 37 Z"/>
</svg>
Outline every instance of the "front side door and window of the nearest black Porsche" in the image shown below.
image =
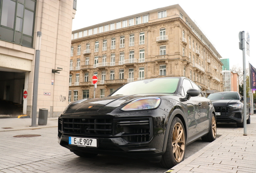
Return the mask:
<svg viewBox="0 0 256 173">
<path fill-rule="evenodd" d="M 184 79 L 182 82 L 182 95 L 186 96 L 188 89 L 192 89 L 190 80 Z M 187 124 L 188 124 L 188 138 L 198 133 L 198 119 L 200 118 L 199 101 L 197 97 L 191 97 L 186 101 L 187 105 Z"/>
</svg>

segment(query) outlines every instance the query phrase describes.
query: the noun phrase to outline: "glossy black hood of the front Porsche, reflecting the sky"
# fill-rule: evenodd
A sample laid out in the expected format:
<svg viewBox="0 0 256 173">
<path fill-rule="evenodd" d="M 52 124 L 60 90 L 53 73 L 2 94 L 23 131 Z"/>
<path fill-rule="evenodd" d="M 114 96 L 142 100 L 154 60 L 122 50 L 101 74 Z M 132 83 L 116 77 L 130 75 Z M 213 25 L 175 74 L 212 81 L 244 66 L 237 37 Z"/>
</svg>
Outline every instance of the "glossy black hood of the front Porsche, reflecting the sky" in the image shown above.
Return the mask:
<svg viewBox="0 0 256 173">
<path fill-rule="evenodd" d="M 111 96 L 99 99 L 83 99 L 70 103 L 65 109 L 65 114 L 70 113 L 96 113 L 103 110 L 116 109 L 130 101 L 142 97 L 161 97 L 164 95 L 130 95 L 130 96 Z"/>
</svg>

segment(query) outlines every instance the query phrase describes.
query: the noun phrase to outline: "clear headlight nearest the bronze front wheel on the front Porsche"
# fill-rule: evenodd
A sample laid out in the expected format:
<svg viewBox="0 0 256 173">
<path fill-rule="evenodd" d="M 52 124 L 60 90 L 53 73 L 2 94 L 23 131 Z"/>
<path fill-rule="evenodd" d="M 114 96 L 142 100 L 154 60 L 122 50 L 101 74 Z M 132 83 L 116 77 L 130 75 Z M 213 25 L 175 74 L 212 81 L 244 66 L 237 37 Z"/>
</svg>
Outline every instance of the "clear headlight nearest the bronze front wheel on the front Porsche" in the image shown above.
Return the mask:
<svg viewBox="0 0 256 173">
<path fill-rule="evenodd" d="M 136 99 L 131 103 L 125 105 L 122 111 L 138 111 L 144 109 L 154 109 L 160 105 L 161 99 L 159 97 L 147 97 Z"/>
</svg>

